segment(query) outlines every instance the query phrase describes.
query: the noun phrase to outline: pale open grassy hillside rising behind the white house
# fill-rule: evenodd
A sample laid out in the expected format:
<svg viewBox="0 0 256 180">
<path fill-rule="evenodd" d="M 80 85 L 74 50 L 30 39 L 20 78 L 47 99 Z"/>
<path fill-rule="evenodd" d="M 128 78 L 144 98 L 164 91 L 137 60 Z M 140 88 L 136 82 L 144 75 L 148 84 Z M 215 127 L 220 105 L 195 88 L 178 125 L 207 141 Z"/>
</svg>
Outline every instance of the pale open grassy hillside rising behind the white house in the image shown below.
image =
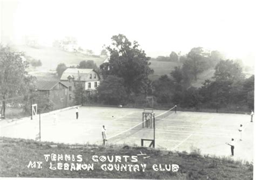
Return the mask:
<svg viewBox="0 0 256 180">
<path fill-rule="evenodd" d="M 82 60 L 93 60 L 99 66 L 103 63 L 103 58 L 96 58 L 86 56 L 79 52 L 67 52 L 55 47 L 43 47 L 38 48 L 29 46 L 12 46 L 15 51 L 25 52 L 26 56 L 30 56 L 35 59 L 42 61 L 42 67 L 37 70 L 56 70 L 59 63 L 65 63 L 66 66 L 78 65 Z"/>
</svg>

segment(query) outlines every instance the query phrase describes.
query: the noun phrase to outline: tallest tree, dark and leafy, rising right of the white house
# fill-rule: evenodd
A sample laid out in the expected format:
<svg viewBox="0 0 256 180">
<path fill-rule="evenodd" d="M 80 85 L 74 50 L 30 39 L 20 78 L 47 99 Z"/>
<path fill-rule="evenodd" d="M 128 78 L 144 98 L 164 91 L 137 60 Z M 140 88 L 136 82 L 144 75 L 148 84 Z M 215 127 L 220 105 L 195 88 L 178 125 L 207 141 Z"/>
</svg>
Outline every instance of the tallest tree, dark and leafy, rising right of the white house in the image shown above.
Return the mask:
<svg viewBox="0 0 256 180">
<path fill-rule="evenodd" d="M 109 63 L 101 66 L 102 73 L 107 75 L 116 75 L 124 79 L 124 87 L 127 94 L 145 93 L 147 87 L 148 75 L 153 73 L 149 67 L 150 57 L 138 49 L 137 41 L 133 44 L 123 35 L 118 34 L 112 38 L 112 46 L 106 49 L 110 53 Z"/>
</svg>

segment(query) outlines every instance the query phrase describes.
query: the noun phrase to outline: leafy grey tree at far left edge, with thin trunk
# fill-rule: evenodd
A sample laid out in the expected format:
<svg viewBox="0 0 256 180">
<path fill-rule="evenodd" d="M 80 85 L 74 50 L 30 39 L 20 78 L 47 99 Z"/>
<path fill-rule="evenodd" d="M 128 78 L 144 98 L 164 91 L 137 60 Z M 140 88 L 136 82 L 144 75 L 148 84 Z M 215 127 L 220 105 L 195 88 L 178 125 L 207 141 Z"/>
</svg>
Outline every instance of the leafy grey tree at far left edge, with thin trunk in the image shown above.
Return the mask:
<svg viewBox="0 0 256 180">
<path fill-rule="evenodd" d="M 9 47 L 0 46 L 0 99 L 1 114 L 5 116 L 5 100 L 35 91 L 35 77 L 28 75 L 28 62 L 24 53 L 11 52 Z"/>
</svg>

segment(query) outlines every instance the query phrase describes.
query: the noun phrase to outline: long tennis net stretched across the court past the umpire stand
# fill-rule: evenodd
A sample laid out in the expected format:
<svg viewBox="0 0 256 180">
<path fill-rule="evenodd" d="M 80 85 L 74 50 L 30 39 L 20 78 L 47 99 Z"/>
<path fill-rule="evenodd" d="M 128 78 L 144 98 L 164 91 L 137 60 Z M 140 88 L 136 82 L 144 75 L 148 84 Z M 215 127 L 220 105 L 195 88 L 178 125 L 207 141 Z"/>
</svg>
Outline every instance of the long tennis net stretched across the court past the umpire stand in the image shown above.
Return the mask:
<svg viewBox="0 0 256 180">
<path fill-rule="evenodd" d="M 166 110 L 164 113 L 161 113 L 161 114 L 155 116 L 155 122 L 163 120 L 163 119 L 165 119 L 165 117 L 170 116 L 172 113 L 176 112 L 176 107 L 177 106 L 174 106 L 171 109 Z M 143 129 L 143 126 L 142 126 L 143 123 L 145 123 L 145 122 L 140 122 L 127 130 L 124 130 L 116 135 L 108 137 L 107 143 L 110 143 L 110 144 L 117 143 L 117 142 L 125 142 L 126 143 L 127 141 L 124 141 L 124 140 L 127 139 L 127 137 L 129 137 L 129 136 L 137 133 L 139 130 Z"/>
</svg>

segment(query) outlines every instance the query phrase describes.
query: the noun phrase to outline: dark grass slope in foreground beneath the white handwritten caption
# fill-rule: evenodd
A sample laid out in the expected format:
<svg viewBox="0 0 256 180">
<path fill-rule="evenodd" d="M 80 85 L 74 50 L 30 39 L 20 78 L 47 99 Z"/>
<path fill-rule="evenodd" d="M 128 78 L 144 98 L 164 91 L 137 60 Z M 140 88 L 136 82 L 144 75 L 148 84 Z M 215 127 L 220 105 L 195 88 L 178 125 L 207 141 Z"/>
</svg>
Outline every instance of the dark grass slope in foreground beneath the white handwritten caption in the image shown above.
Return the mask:
<svg viewBox="0 0 256 180">
<path fill-rule="evenodd" d="M 62 178 L 167 178 L 167 179 L 252 179 L 253 166 L 235 162 L 230 158 L 203 157 L 196 151 L 191 154 L 185 152 L 160 151 L 157 149 L 129 146 L 77 146 L 49 142 L 35 142 L 32 140 L 0 138 L 0 176 L 1 177 L 62 177 Z M 74 145 L 75 146 L 75 145 Z M 93 162 L 92 156 L 137 156 L 138 162 L 122 162 L 119 164 L 146 164 L 145 172 L 140 171 L 104 171 L 102 164 L 114 162 Z M 82 162 L 93 163 L 93 170 L 51 170 L 49 162 L 45 161 L 45 154 L 81 155 Z M 28 168 L 30 161 L 42 161 L 41 169 Z M 56 161 L 51 161 L 57 166 Z M 72 161 L 62 161 L 72 163 Z M 73 163 L 78 163 L 77 161 Z M 116 163 L 118 164 L 118 163 Z M 154 171 L 152 165 L 178 164 L 178 172 Z"/>
</svg>

